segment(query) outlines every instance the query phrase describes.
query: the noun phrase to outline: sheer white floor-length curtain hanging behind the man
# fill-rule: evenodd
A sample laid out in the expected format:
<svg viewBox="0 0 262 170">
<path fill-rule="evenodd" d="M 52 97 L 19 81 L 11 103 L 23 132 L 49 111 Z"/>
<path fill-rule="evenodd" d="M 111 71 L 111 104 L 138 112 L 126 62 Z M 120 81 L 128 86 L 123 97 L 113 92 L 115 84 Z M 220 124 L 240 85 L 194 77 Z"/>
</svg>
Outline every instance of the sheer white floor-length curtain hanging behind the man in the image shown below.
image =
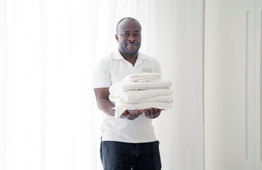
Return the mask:
<svg viewBox="0 0 262 170">
<path fill-rule="evenodd" d="M 116 50 L 116 23 L 126 16 L 141 22 L 141 51 L 173 81 L 174 107 L 154 121 L 163 169 L 203 169 L 203 6 L 1 0 L 0 169 L 102 169 L 93 69 Z"/>
</svg>

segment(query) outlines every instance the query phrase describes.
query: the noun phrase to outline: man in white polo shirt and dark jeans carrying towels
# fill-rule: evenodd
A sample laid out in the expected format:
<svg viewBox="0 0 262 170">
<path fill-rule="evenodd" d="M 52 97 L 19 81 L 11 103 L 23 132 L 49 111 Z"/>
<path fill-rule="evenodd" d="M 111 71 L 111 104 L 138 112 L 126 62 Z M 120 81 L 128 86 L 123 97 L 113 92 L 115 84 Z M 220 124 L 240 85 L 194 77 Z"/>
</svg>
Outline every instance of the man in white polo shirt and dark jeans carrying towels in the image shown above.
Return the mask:
<svg viewBox="0 0 262 170">
<path fill-rule="evenodd" d="M 152 119 L 160 115 L 158 108 L 124 111 L 114 120 L 114 103 L 109 101 L 109 87 L 129 74 L 160 73 L 153 57 L 138 52 L 141 47 L 141 25 L 134 18 L 123 18 L 116 26 L 119 48 L 97 64 L 94 72 L 94 94 L 97 106 L 104 112 L 100 154 L 105 170 L 161 169 L 159 142 L 155 138 Z"/>
</svg>

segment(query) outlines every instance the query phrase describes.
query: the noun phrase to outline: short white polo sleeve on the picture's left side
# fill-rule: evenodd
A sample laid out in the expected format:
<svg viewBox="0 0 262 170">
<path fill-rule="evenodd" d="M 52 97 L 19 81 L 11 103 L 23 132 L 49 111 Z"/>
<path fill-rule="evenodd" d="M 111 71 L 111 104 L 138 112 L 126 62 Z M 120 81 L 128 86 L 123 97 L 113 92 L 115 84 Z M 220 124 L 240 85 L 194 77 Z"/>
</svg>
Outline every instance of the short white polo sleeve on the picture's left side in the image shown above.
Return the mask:
<svg viewBox="0 0 262 170">
<path fill-rule="evenodd" d="M 104 88 L 111 86 L 110 79 L 110 59 L 109 57 L 101 60 L 94 69 L 93 87 Z"/>
</svg>

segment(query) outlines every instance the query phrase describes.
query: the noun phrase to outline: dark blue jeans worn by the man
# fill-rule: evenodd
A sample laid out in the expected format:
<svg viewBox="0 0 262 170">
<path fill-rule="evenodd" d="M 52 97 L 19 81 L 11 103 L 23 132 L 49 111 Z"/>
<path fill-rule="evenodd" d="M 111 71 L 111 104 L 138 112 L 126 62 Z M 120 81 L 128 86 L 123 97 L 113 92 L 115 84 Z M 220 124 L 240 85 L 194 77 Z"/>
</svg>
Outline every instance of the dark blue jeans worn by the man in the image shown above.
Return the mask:
<svg viewBox="0 0 262 170">
<path fill-rule="evenodd" d="M 100 157 L 104 170 L 160 170 L 159 142 L 125 143 L 102 141 Z"/>
</svg>

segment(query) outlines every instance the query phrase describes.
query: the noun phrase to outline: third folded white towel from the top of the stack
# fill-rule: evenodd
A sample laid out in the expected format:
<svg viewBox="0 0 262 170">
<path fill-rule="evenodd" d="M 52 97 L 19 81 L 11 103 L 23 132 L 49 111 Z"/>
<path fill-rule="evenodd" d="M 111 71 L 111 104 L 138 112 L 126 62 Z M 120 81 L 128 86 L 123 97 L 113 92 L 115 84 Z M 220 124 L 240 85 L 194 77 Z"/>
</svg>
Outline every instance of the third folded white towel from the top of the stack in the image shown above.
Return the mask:
<svg viewBox="0 0 262 170">
<path fill-rule="evenodd" d="M 109 94 L 109 100 L 116 103 L 138 103 L 139 100 L 153 96 L 171 95 L 171 89 L 150 89 L 138 91 L 119 91 Z"/>
</svg>

